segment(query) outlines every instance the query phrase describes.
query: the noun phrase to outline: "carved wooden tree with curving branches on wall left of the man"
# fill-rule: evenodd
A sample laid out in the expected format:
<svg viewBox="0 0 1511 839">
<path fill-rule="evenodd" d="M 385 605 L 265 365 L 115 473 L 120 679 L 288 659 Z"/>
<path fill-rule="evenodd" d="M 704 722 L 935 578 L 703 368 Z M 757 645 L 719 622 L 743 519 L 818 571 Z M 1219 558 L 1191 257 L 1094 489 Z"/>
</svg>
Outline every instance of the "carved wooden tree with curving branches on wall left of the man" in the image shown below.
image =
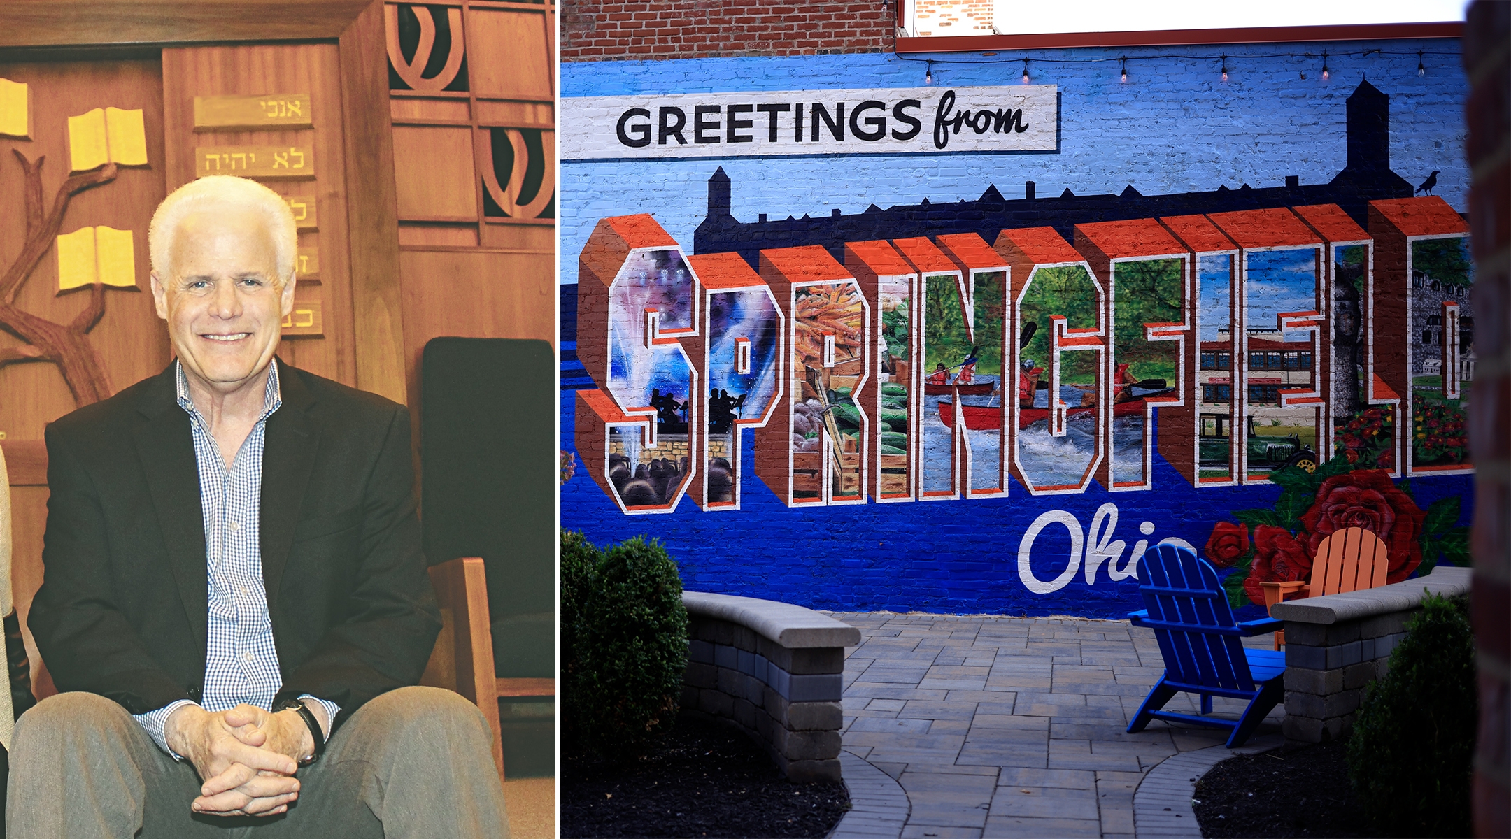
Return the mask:
<svg viewBox="0 0 1511 839">
<path fill-rule="evenodd" d="M 68 201 L 86 189 L 113 181 L 116 167 L 109 163 L 92 172 L 70 177 L 57 189 L 51 211 L 44 216 L 42 161 L 47 158 L 38 157 L 32 161 L 20 149 L 14 151 L 24 171 L 26 243 L 15 263 L 0 276 L 0 329 L 21 338 L 26 346 L 0 350 L 0 367 L 24 361 L 51 361 L 62 371 L 76 404 L 95 403 L 110 395 L 104 364 L 88 337 L 104 317 L 104 285 L 94 284 L 89 305 L 68 326 L 24 312 L 14 303 L 21 284 L 32 276 L 36 264 L 51 249 L 63 225 Z"/>
</svg>

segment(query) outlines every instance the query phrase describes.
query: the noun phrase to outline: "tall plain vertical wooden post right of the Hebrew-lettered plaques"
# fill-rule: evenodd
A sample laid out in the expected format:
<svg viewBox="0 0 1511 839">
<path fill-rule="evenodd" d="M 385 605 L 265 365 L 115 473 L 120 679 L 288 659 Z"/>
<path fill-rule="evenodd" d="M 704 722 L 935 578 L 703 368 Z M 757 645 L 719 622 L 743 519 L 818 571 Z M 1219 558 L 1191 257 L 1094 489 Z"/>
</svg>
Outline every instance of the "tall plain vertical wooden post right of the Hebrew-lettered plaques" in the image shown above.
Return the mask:
<svg viewBox="0 0 1511 839">
<path fill-rule="evenodd" d="M 399 210 L 393 180 L 393 131 L 388 98 L 388 51 L 382 2 L 341 33 L 341 107 L 351 223 L 352 330 L 357 338 L 357 386 L 403 401 L 403 314 L 399 300 Z"/>
</svg>

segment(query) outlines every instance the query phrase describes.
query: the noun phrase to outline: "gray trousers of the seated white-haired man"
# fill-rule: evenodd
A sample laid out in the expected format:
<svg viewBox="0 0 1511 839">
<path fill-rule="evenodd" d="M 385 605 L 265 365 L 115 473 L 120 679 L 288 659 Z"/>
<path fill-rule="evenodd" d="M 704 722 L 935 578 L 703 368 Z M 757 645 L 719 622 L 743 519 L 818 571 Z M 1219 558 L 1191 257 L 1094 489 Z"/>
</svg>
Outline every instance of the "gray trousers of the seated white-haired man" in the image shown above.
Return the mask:
<svg viewBox="0 0 1511 839">
<path fill-rule="evenodd" d="M 360 708 L 299 770 L 299 800 L 277 816 L 195 813 L 199 774 L 175 762 L 115 702 L 44 699 L 11 751 L 11 839 L 508 837 L 493 733 L 471 703 L 400 688 Z"/>
</svg>

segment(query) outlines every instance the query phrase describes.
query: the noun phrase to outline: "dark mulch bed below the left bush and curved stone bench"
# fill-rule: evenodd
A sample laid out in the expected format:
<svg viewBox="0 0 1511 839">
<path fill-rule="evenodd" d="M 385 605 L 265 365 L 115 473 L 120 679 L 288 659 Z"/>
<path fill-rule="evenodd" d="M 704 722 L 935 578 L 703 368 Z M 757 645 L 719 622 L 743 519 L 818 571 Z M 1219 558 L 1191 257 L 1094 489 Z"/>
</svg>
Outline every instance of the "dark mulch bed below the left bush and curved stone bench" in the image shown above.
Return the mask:
<svg viewBox="0 0 1511 839">
<path fill-rule="evenodd" d="M 843 783 L 789 783 L 743 732 L 688 715 L 633 764 L 562 761 L 567 837 L 822 837 L 846 810 Z"/>
</svg>

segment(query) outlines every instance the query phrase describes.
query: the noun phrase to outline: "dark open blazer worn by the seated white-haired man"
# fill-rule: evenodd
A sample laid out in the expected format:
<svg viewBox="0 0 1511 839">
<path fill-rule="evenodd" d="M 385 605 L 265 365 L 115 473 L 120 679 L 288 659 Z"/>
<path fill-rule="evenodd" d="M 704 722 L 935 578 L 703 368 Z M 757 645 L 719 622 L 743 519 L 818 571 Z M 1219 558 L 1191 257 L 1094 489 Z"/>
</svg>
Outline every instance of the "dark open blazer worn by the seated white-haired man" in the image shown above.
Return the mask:
<svg viewBox="0 0 1511 839">
<path fill-rule="evenodd" d="M 440 631 L 409 413 L 280 362 L 261 555 L 283 690 L 341 706 L 419 682 Z M 47 427 L 44 581 L 27 625 L 59 691 L 142 714 L 199 700 L 209 625 L 199 469 L 174 368 Z"/>
</svg>

